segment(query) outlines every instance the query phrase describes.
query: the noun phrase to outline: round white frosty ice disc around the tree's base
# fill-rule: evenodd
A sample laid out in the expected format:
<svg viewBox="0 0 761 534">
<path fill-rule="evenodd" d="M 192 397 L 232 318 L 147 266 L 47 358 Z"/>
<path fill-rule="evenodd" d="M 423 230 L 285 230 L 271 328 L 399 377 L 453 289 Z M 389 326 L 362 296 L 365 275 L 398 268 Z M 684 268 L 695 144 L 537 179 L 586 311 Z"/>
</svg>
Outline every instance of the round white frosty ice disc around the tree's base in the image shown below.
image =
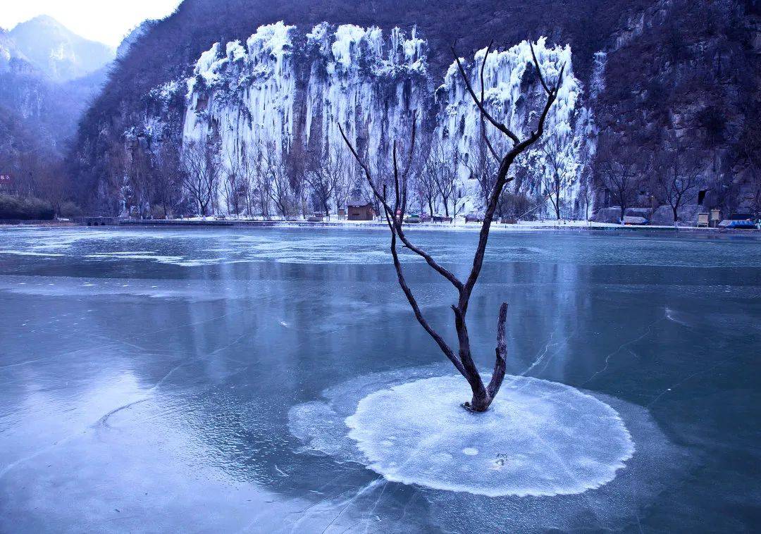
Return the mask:
<svg viewBox="0 0 761 534">
<path fill-rule="evenodd" d="M 349 437 L 387 480 L 489 497 L 599 488 L 634 453 L 618 412 L 572 386 L 508 376 L 481 414 L 468 393 L 462 377 L 380 389 L 345 419 Z"/>
</svg>

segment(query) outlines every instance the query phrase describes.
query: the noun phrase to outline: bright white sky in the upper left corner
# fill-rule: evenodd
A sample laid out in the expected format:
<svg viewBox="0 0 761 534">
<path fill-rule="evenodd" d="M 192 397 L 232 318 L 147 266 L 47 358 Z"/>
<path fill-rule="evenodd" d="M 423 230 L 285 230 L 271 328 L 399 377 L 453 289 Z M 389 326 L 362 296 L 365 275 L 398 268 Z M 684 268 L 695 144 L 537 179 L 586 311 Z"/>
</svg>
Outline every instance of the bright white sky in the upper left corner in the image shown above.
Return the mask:
<svg viewBox="0 0 761 534">
<path fill-rule="evenodd" d="M 116 46 L 147 18 L 163 18 L 180 0 L 0 0 L 0 27 L 10 30 L 40 14 L 82 37 Z"/>
</svg>

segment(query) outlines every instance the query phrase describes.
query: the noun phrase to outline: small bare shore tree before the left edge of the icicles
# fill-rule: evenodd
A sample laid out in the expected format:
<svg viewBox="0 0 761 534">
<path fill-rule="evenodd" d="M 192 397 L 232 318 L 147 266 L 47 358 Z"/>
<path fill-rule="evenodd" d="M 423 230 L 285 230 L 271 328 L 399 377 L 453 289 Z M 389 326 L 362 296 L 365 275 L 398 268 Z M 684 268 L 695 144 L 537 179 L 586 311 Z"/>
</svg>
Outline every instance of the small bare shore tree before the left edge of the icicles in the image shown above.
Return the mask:
<svg viewBox="0 0 761 534">
<path fill-rule="evenodd" d="M 209 215 L 220 174 L 219 155 L 214 145 L 190 142 L 183 150 L 183 186 L 199 208 L 199 215 Z"/>
</svg>

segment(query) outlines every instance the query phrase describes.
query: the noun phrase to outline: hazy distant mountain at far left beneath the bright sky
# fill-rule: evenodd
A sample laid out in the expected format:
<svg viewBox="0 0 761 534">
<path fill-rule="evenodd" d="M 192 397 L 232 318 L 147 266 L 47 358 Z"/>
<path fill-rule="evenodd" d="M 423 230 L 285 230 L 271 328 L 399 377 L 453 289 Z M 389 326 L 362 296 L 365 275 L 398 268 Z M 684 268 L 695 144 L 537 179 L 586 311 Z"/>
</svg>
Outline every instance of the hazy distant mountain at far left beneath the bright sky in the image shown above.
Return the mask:
<svg viewBox="0 0 761 534">
<path fill-rule="evenodd" d="M 0 173 L 46 195 L 78 121 L 100 94 L 116 51 L 50 17 L 0 29 Z"/>
</svg>

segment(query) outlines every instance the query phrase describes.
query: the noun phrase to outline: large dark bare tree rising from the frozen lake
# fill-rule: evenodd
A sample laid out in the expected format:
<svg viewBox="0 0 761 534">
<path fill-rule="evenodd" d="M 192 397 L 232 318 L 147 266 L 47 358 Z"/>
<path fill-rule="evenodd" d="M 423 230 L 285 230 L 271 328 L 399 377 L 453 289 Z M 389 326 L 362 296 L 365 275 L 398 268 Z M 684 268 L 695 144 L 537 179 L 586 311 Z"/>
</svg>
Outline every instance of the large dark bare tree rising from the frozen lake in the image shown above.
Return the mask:
<svg viewBox="0 0 761 534">
<path fill-rule="evenodd" d="M 502 154 L 498 154 L 494 150 L 494 147 L 489 142 L 488 138 L 484 138 L 490 153 L 493 157 L 498 159 L 500 163 L 495 186 L 489 195 L 489 202 L 486 205 L 486 214 L 484 215 L 484 221 L 479 233 L 478 246 L 476 247 L 476 253 L 473 256 L 473 268 L 470 270 L 470 274 L 466 278 L 466 281 L 460 281 L 460 279 L 457 278 L 453 273 L 447 269 L 444 269 L 444 267 L 442 267 L 430 254 L 426 253 L 425 250 L 422 250 L 418 246 L 414 245 L 406 236 L 403 230 L 402 221 L 406 211 L 408 194 L 407 177 L 409 175 L 409 169 L 412 163 L 412 154 L 415 146 L 416 117 L 414 115 L 412 117 L 412 133 L 410 135 L 409 156 L 407 157 L 407 161 L 404 167 L 400 168 L 397 158 L 396 141 L 393 143 L 393 196 L 391 198 L 387 194 L 386 187 L 380 190 L 377 189 L 370 167 L 368 167 L 368 164 L 358 154 L 356 148 L 354 145 L 352 145 L 352 142 L 349 141 L 349 138 L 346 137 L 343 129 L 339 125 L 343 140 L 349 147 L 349 150 L 352 151 L 352 155 L 358 161 L 358 164 L 360 164 L 362 170 L 365 171 L 365 177 L 368 181 L 368 184 L 371 186 L 374 197 L 383 206 L 386 222 L 391 233 L 391 255 L 393 256 L 393 265 L 396 269 L 396 276 L 398 278 L 400 287 L 402 288 L 402 291 L 404 292 L 410 307 L 412 307 L 412 311 L 415 313 L 416 319 L 420 325 L 425 329 L 426 332 L 428 332 L 428 335 L 434 339 L 439 348 L 441 348 L 441 351 L 444 353 L 444 355 L 449 359 L 449 361 L 452 362 L 454 367 L 460 371 L 460 373 L 469 383 L 473 396 L 471 397 L 470 402 L 464 403 L 463 406 L 473 412 L 486 412 L 486 410 L 489 409 L 489 406 L 492 404 L 492 401 L 494 400 L 499 391 L 499 388 L 501 387 L 502 380 L 505 378 L 505 353 L 507 351 L 507 346 L 505 344 L 505 323 L 507 321 L 508 304 L 501 304 L 499 309 L 499 316 L 497 321 L 497 347 L 495 350 L 496 360 L 494 364 L 494 370 L 492 372 L 492 378 L 489 381 L 489 384 L 485 385 L 479 370 L 476 368 L 476 364 L 473 362 L 473 356 L 470 351 L 470 338 L 466 326 L 466 313 L 468 310 L 468 305 L 470 304 L 470 296 L 473 293 L 473 287 L 476 285 L 476 281 L 478 281 L 479 275 L 481 273 L 484 254 L 486 253 L 486 243 L 489 240 L 489 229 L 492 224 L 492 219 L 495 215 L 499 197 L 502 193 L 502 190 L 505 188 L 505 184 L 508 183 L 508 181 L 512 180 L 511 177 L 508 177 L 510 167 L 518 154 L 521 154 L 521 152 L 527 150 L 527 148 L 536 143 L 543 135 L 549 108 L 552 106 L 552 103 L 555 102 L 558 96 L 558 91 L 562 82 L 562 74 L 565 70 L 565 67 L 563 67 L 559 72 L 559 76 L 555 84 L 549 85 L 542 75 L 537 57 L 533 54 L 532 46 L 531 52 L 533 56 L 533 65 L 535 68 L 537 68 L 538 78 L 542 84 L 544 91 L 546 92 L 546 103 L 544 104 L 538 118 L 537 128 L 531 132 L 527 138 L 521 140 L 521 138 L 512 132 L 508 126 L 505 126 L 503 122 L 495 119 L 495 117 L 489 113 L 489 110 L 486 109 L 486 104 L 484 103 L 485 88 L 483 83 L 483 72 L 486 66 L 486 58 L 489 56 L 491 49 L 492 45 L 489 44 L 489 48 L 486 49 L 486 56 L 484 56 L 481 65 L 481 94 L 479 97 L 476 95 L 476 92 L 473 91 L 473 86 L 470 84 L 470 78 L 468 78 L 468 75 L 466 74 L 465 69 L 460 62 L 460 56 L 457 55 L 454 46 L 452 47 L 452 52 L 454 53 L 454 58 L 457 62 L 460 76 L 463 79 L 470 97 L 473 98 L 476 106 L 478 106 L 482 119 L 488 120 L 493 127 L 495 127 L 503 135 L 507 136 L 513 144 L 512 148 L 510 148 L 508 151 Z M 457 354 L 454 353 L 452 348 L 447 345 L 447 342 L 445 342 L 441 335 L 439 335 L 438 332 L 436 332 L 435 329 L 431 327 L 431 325 L 422 315 L 422 311 L 420 310 L 416 297 L 407 285 L 399 259 L 399 253 L 396 250 L 397 240 L 400 240 L 404 246 L 412 251 L 412 253 L 416 253 L 419 256 L 422 256 L 422 258 L 425 259 L 425 262 L 431 266 L 431 269 L 434 269 L 435 272 L 438 272 L 439 275 L 450 281 L 451 284 L 454 285 L 454 288 L 457 290 L 457 304 L 452 305 L 452 310 L 454 312 L 454 325 L 457 329 L 457 341 L 459 346 Z"/>
</svg>

